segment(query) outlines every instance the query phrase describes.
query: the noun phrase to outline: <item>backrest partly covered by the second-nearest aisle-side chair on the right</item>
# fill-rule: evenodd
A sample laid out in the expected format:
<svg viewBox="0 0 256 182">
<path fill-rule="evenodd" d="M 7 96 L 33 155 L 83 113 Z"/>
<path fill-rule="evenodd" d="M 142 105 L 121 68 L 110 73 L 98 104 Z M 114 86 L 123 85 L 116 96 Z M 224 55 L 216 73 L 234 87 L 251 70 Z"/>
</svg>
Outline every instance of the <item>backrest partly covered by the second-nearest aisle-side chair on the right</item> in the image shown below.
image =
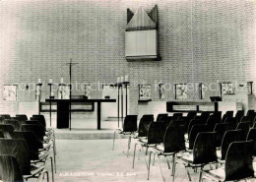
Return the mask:
<svg viewBox="0 0 256 182">
<path fill-rule="evenodd" d="M 193 150 L 197 135 L 199 133 L 203 133 L 203 132 L 212 132 L 211 127 L 209 127 L 206 124 L 203 124 L 203 125 L 202 124 L 201 125 L 196 124 L 192 127 L 192 129 L 190 131 L 190 134 L 189 134 L 189 141 L 188 141 L 188 144 L 189 144 L 188 149 L 189 150 Z"/>
</svg>

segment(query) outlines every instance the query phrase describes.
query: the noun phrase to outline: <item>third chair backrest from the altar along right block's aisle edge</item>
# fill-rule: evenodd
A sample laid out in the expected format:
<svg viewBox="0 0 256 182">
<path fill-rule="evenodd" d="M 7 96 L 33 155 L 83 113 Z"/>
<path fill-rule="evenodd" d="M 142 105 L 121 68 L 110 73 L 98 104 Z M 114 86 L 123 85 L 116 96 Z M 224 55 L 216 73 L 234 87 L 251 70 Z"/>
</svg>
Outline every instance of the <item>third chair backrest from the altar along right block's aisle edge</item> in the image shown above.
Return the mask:
<svg viewBox="0 0 256 182">
<path fill-rule="evenodd" d="M 148 144 L 163 143 L 165 124 L 163 122 L 152 122 L 148 132 Z"/>
</svg>

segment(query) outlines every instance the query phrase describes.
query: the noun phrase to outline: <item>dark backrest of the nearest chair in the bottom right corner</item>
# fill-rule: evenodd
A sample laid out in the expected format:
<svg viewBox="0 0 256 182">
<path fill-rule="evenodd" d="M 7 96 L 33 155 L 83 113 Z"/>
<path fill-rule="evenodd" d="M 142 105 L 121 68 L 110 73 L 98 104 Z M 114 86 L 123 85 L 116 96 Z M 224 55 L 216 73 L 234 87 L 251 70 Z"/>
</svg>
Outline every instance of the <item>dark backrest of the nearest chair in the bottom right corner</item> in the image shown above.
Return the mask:
<svg viewBox="0 0 256 182">
<path fill-rule="evenodd" d="M 238 181 L 254 176 L 252 166 L 253 141 L 233 142 L 225 157 L 225 181 Z"/>
</svg>

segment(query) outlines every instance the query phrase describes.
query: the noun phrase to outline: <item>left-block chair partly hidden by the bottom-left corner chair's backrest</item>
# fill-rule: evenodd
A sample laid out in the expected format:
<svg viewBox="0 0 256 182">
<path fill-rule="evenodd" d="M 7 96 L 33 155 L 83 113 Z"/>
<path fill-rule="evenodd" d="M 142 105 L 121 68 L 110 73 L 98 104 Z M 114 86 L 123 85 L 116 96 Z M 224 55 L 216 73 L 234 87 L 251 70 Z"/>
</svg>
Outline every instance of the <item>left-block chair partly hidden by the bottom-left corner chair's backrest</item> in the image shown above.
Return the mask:
<svg viewBox="0 0 256 182">
<path fill-rule="evenodd" d="M 17 159 L 23 179 L 38 179 L 46 174 L 49 181 L 48 172 L 44 166 L 31 165 L 30 151 L 25 140 L 0 139 L 0 146 L 0 155 L 13 155 Z"/>
</svg>

